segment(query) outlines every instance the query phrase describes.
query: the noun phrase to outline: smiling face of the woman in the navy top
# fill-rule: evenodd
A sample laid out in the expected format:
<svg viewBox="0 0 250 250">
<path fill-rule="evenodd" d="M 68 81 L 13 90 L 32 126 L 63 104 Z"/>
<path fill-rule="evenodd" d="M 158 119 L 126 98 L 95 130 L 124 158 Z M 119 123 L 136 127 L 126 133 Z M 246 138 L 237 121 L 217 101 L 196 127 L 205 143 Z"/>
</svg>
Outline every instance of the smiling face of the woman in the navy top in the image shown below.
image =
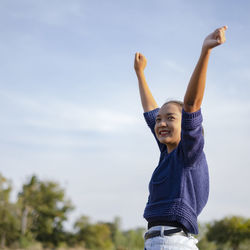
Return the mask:
<svg viewBox="0 0 250 250">
<path fill-rule="evenodd" d="M 173 151 L 181 140 L 181 107 L 176 103 L 164 104 L 156 117 L 155 134 L 165 144 L 168 153 Z"/>
</svg>

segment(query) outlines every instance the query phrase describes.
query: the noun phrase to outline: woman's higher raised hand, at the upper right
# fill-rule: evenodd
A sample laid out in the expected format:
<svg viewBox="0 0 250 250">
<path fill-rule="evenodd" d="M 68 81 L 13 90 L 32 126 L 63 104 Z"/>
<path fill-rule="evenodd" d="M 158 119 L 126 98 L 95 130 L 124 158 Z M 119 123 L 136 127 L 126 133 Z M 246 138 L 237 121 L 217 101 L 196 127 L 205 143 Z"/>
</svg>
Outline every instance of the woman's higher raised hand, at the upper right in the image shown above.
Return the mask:
<svg viewBox="0 0 250 250">
<path fill-rule="evenodd" d="M 226 30 L 227 26 L 223 26 L 221 28 L 216 29 L 213 33 L 208 35 L 203 42 L 202 50 L 208 51 L 218 45 L 223 44 L 226 41 L 225 37 Z"/>
</svg>

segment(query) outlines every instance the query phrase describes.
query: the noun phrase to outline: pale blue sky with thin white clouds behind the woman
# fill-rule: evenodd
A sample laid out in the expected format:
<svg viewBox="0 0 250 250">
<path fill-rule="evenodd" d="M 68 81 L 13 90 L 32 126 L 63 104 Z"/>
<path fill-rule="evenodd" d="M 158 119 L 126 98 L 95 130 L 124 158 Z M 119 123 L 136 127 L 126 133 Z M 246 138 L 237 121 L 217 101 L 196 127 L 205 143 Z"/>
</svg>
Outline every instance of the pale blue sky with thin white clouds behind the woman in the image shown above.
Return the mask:
<svg viewBox="0 0 250 250">
<path fill-rule="evenodd" d="M 59 182 L 93 220 L 145 226 L 159 153 L 147 129 L 134 53 L 159 105 L 182 99 L 205 36 L 214 49 L 203 102 L 211 190 L 201 221 L 250 216 L 248 1 L 0 2 L 0 172 L 15 191 L 28 176 Z"/>
</svg>

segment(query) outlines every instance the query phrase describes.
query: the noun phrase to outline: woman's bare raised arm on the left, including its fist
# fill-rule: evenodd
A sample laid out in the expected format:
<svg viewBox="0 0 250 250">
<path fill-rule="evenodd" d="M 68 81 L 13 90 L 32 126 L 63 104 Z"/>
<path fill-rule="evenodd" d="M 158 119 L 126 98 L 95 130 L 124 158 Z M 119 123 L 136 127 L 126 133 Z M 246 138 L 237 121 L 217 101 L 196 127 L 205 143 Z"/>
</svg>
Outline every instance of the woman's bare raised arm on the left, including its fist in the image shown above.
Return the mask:
<svg viewBox="0 0 250 250">
<path fill-rule="evenodd" d="M 147 65 L 147 60 L 141 53 L 137 52 L 135 54 L 135 62 L 134 62 L 134 68 L 135 72 L 138 78 L 138 84 L 139 84 L 139 90 L 140 90 L 140 96 L 141 96 L 141 103 L 144 112 L 151 111 L 153 109 L 156 109 L 157 103 L 148 87 L 148 84 L 146 82 L 146 78 L 144 75 L 144 69 Z"/>
</svg>

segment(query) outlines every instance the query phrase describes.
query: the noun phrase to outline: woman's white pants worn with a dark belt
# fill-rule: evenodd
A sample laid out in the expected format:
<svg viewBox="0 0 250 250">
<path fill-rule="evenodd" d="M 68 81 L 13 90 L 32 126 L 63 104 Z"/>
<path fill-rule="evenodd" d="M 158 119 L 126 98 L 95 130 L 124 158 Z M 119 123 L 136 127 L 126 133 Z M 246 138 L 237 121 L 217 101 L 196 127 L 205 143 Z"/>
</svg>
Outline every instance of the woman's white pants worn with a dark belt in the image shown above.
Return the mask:
<svg viewBox="0 0 250 250">
<path fill-rule="evenodd" d="M 161 236 L 153 237 L 145 241 L 144 250 L 198 250 L 196 246 L 198 240 L 193 236 L 184 236 L 180 234 L 173 234 L 164 236 L 163 231 L 173 229 L 175 227 L 169 226 L 155 226 L 151 227 L 147 232 L 161 231 Z"/>
</svg>

